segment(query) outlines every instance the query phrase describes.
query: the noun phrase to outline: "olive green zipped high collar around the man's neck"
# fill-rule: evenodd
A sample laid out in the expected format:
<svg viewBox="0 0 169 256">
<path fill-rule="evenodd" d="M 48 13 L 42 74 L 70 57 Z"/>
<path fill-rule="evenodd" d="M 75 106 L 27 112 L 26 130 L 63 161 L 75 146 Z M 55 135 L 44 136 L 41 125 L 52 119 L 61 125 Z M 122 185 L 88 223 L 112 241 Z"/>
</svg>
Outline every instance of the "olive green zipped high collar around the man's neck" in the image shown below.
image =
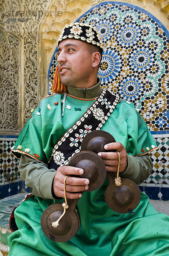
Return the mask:
<svg viewBox="0 0 169 256">
<path fill-rule="evenodd" d="M 98 83 L 96 85 L 88 89 L 68 86 L 68 94 L 81 99 L 94 99 L 100 95 L 101 91 L 100 79 L 98 79 Z"/>
</svg>

